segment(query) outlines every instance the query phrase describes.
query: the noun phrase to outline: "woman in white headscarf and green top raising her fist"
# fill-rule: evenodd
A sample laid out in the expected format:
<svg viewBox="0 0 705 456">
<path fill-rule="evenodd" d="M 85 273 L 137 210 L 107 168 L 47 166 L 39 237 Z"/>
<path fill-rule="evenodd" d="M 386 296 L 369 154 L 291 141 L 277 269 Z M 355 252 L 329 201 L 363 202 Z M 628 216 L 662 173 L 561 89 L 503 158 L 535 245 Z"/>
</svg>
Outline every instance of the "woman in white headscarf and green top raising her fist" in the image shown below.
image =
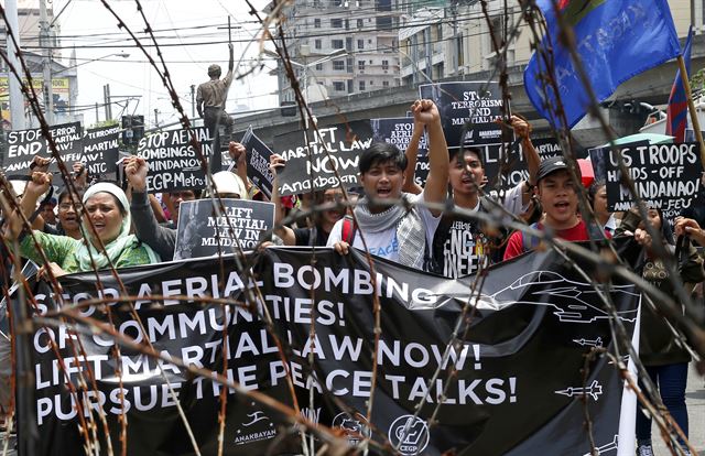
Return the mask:
<svg viewBox="0 0 705 456">
<path fill-rule="evenodd" d="M 32 181 L 28 183 L 21 203 L 25 216 L 32 214 L 36 200 L 46 192 L 51 182 L 52 175 L 48 173 L 32 174 Z M 130 205 L 120 187 L 109 183 L 96 184 L 84 194 L 83 205 L 83 239 L 33 231 L 33 236 L 25 236 L 21 240 L 21 254 L 39 264 L 44 262 L 34 242 L 35 238 L 48 261 L 61 268 L 54 268 L 55 275 L 105 269 L 110 264 L 119 269 L 160 261 L 159 256 L 149 246 L 130 235 Z M 14 214 L 8 234 L 10 239 L 17 238 L 21 228 L 21 217 Z"/>
</svg>

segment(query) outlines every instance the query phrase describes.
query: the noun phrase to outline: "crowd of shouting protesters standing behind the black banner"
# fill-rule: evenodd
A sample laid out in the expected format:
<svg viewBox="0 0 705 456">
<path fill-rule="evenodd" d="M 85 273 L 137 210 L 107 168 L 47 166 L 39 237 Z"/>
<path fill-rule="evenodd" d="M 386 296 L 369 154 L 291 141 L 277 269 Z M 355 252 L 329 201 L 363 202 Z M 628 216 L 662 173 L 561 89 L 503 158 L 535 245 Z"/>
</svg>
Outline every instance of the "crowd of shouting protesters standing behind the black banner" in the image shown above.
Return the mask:
<svg viewBox="0 0 705 456">
<path fill-rule="evenodd" d="M 215 110 L 206 105 L 206 113 L 209 109 Z M 529 177 L 496 193 L 486 188 L 480 149 L 463 146 L 448 152 L 441 115 L 432 101 L 415 101 L 411 112 L 414 130 L 408 150 L 389 143 L 372 143 L 364 150 L 357 191 L 329 188 L 280 197 L 274 181 L 270 198 L 275 204 L 274 243 L 328 246 L 340 254 L 348 254 L 351 247 L 367 249 L 406 267 L 462 278 L 539 246 L 539 237 L 508 229 L 503 222 L 508 220 L 566 241 L 632 236 L 647 251 L 643 278 L 670 295 L 674 293 L 668 270 L 655 253 L 647 224 L 660 234 L 666 250 L 675 250 L 674 235 L 686 236 L 693 246 L 705 245 L 705 231 L 693 218 L 674 220 L 673 232 L 658 209 L 649 209 L 648 220 L 642 220 L 637 210 L 623 217 L 610 214 L 600 181 L 585 189 L 589 205 L 581 210 L 579 172 L 576 175 L 564 156 L 541 161 L 531 142 L 531 126 L 521 117 L 512 116 L 509 123 L 522 145 Z M 430 172 L 420 186 L 414 183 L 414 170 L 424 131 Z M 213 175 L 215 194 L 221 198 L 267 199 L 248 180 L 245 148 L 231 142 L 229 151 L 237 171 Z M 17 240 L 23 258 L 43 264 L 40 273 L 51 270 L 54 276 L 171 261 L 180 204 L 210 196 L 205 188 L 162 194 L 160 198 L 150 195 L 148 161 L 130 156 L 123 161 L 124 189 L 107 182 L 87 185 L 85 167 L 76 164 L 70 185 L 53 198 L 46 196 L 53 184 L 48 164 L 48 160 L 35 159 L 29 180 L 13 187 L 18 207 L 12 207 L 10 195 L 6 195 L 0 248 Z M 282 156 L 271 156 L 274 177 L 284 166 Z M 481 221 L 476 213 L 488 217 Z M 495 221 L 486 221 L 488 218 Z M 682 282 L 694 285 L 705 273 L 693 246 L 688 243 L 685 254 L 680 254 L 679 273 Z M 8 285 L 13 260 L 8 250 L 1 253 L 4 276 L 0 285 Z M 640 356 L 671 415 L 687 435 L 684 393 L 691 358 L 676 340 L 672 324 L 653 306 L 642 308 Z M 7 370 L 0 371 L 0 377 L 8 374 Z M 4 378 L 0 381 L 7 383 Z M 7 408 L 7 394 L 0 394 L 0 400 Z M 651 454 L 651 423 L 642 413 L 638 414 L 637 437 L 638 454 Z"/>
</svg>

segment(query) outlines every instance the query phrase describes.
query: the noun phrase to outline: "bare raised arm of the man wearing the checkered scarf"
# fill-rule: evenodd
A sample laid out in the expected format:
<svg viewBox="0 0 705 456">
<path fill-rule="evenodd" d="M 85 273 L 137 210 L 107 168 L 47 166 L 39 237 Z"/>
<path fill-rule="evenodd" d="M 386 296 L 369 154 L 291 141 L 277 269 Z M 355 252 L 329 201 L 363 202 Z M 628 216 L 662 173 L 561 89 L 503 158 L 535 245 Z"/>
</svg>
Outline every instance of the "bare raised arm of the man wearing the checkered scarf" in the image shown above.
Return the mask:
<svg viewBox="0 0 705 456">
<path fill-rule="evenodd" d="M 423 188 L 423 197 L 426 203 L 443 203 L 448 191 L 448 145 L 441 126 L 438 108 L 431 100 L 416 100 L 411 111 L 414 119 L 426 127 L 429 135 L 429 177 Z M 443 210 L 430 209 L 434 216 L 440 216 Z"/>
</svg>

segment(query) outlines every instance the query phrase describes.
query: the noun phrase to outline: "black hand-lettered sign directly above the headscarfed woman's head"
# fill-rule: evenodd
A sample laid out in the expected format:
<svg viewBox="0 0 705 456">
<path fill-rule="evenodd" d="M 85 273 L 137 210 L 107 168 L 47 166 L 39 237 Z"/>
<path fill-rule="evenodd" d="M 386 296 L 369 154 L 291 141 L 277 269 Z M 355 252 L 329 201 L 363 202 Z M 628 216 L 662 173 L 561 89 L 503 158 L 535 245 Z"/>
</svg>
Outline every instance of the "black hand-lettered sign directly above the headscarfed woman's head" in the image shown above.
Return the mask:
<svg viewBox="0 0 705 456">
<path fill-rule="evenodd" d="M 119 135 L 119 126 L 86 130 L 83 141 L 84 163 L 90 176 L 99 180 L 116 178 Z"/>
</svg>

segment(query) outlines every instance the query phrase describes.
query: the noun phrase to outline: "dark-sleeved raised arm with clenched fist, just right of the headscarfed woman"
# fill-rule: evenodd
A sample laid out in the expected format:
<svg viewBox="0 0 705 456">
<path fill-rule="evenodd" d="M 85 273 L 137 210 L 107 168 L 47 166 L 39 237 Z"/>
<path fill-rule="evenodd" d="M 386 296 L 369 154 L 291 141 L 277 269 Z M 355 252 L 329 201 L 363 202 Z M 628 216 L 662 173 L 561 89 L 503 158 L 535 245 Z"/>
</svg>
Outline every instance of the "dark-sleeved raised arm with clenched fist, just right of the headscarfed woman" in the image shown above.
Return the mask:
<svg viewBox="0 0 705 456">
<path fill-rule="evenodd" d="M 130 156 L 124 160 L 124 174 L 132 187 L 130 213 L 134 235 L 139 240 L 150 246 L 164 260 L 174 257 L 176 230 L 163 227 L 156 222 L 147 196 L 147 173 L 149 166 L 141 156 Z"/>
</svg>

